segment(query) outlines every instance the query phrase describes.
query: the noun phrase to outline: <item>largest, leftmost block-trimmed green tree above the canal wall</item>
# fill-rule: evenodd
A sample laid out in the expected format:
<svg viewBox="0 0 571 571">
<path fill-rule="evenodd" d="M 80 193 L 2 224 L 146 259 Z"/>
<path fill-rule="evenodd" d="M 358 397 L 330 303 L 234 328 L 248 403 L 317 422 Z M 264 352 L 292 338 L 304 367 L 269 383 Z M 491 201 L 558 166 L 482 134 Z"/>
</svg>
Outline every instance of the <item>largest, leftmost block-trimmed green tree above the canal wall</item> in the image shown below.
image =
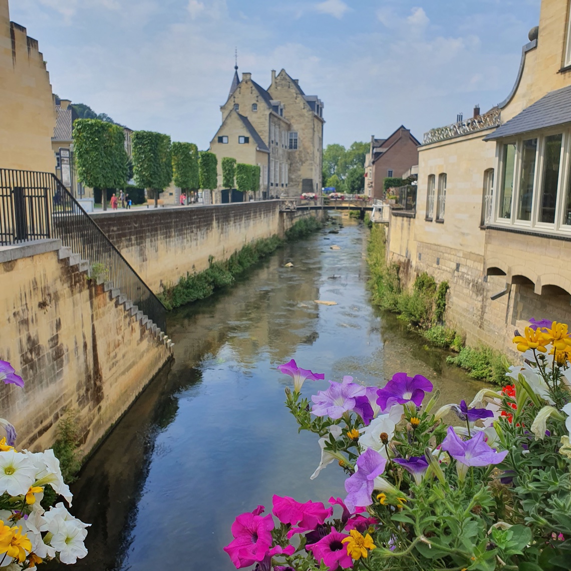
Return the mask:
<svg viewBox="0 0 571 571">
<path fill-rule="evenodd" d="M 86 186 L 101 189 L 123 188 L 128 166 L 122 127 L 98 119 L 77 119 L 73 128 L 74 158 L 78 179 Z M 107 200 L 102 198 L 103 210 Z"/>
</svg>

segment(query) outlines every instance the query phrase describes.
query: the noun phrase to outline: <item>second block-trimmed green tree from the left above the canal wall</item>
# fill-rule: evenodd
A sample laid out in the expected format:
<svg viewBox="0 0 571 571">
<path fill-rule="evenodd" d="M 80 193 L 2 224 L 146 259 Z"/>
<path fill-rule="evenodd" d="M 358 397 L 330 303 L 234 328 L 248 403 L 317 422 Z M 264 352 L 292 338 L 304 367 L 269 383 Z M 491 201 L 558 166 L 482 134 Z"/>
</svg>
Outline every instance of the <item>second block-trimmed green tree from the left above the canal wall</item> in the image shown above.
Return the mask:
<svg viewBox="0 0 571 571">
<path fill-rule="evenodd" d="M 135 183 L 147 189 L 147 195 L 155 199 L 156 208 L 159 193 L 172 180 L 171 138 L 154 131 L 134 131 L 131 143 Z"/>
</svg>

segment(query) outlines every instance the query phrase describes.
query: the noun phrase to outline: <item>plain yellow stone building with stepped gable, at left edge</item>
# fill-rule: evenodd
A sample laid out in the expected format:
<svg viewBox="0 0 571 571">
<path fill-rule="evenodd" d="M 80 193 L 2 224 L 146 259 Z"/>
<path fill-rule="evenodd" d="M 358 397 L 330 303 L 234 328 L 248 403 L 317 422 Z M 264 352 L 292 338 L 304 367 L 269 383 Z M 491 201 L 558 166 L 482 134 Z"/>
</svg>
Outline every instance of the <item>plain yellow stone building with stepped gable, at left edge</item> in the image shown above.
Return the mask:
<svg viewBox="0 0 571 571">
<path fill-rule="evenodd" d="M 55 106 L 37 40 L 0 0 L 0 167 L 53 172 Z"/>
</svg>

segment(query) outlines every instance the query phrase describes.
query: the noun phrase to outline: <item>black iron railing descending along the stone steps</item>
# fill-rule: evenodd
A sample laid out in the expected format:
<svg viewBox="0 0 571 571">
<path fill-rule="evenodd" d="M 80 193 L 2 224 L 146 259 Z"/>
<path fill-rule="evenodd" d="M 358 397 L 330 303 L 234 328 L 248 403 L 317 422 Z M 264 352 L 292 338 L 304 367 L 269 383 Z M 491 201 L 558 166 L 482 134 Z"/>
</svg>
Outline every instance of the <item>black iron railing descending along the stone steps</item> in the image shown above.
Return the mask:
<svg viewBox="0 0 571 571">
<path fill-rule="evenodd" d="M 54 174 L 0 168 L 0 245 L 59 238 L 162 331 L 166 309 Z"/>
</svg>

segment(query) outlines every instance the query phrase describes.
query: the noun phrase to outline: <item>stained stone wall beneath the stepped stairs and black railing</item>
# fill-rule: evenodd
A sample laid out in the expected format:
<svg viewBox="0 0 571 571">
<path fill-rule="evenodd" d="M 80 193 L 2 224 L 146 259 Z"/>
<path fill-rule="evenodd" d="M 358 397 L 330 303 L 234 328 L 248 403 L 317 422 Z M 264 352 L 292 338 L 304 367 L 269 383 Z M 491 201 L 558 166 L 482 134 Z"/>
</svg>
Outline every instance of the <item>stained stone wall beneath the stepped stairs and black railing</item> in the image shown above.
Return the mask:
<svg viewBox="0 0 571 571">
<path fill-rule="evenodd" d="M 131 315 L 59 240 L 0 248 L 0 359 L 23 388 L 2 387 L 2 416 L 18 448 L 50 447 L 66 408 L 79 412 L 89 452 L 170 358 L 167 345 Z M 85 265 L 85 264 L 84 264 Z"/>
</svg>

